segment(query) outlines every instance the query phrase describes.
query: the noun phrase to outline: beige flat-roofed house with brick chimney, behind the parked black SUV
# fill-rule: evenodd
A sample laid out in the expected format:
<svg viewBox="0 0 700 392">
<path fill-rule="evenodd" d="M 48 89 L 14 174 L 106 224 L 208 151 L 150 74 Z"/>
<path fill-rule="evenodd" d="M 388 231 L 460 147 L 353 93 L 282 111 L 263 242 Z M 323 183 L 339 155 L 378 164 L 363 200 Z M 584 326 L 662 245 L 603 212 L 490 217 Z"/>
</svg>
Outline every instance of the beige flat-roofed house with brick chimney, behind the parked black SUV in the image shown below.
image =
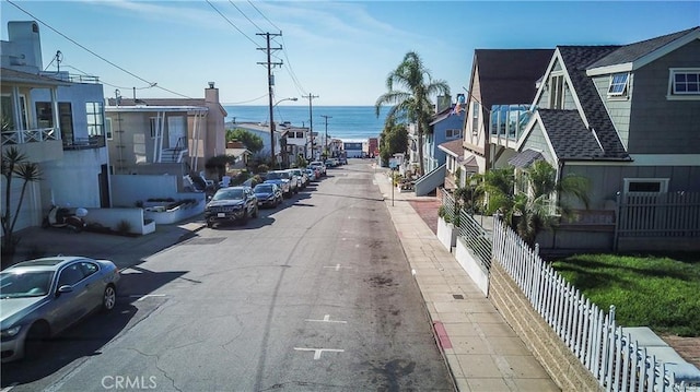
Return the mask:
<svg viewBox="0 0 700 392">
<path fill-rule="evenodd" d="M 118 95 L 118 92 L 117 92 Z M 225 153 L 226 110 L 213 82 L 205 98 L 109 98 L 105 108 L 115 174 L 188 175 Z"/>
</svg>

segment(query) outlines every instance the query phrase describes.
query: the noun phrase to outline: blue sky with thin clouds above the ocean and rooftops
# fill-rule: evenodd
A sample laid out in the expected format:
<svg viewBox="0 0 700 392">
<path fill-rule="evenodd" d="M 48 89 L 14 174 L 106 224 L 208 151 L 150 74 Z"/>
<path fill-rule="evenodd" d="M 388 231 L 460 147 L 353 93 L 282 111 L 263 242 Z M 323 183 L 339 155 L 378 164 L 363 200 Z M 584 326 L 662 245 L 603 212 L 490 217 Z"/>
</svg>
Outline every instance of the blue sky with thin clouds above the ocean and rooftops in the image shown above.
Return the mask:
<svg viewBox="0 0 700 392">
<path fill-rule="evenodd" d="M 45 23 L 44 67 L 60 50 L 61 70 L 100 76 L 105 96 L 201 98 L 215 82 L 222 103 L 247 105 L 267 105 L 257 33 L 282 32 L 276 100 L 335 106 L 374 105 L 411 50 L 454 96 L 475 49 L 623 45 L 700 25 L 700 1 L 1 1 L 3 40 L 8 21 Z"/>
</svg>

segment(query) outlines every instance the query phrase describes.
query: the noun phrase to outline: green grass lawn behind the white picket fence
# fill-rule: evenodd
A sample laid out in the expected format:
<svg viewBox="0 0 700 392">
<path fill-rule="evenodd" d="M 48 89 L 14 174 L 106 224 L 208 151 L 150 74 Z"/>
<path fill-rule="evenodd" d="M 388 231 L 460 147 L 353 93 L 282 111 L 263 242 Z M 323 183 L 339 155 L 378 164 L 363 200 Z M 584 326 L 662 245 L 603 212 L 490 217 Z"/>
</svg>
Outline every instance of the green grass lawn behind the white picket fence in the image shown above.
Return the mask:
<svg viewBox="0 0 700 392">
<path fill-rule="evenodd" d="M 700 254 L 582 254 L 552 268 L 604 311 L 615 305 L 618 325 L 700 336 Z"/>
</svg>

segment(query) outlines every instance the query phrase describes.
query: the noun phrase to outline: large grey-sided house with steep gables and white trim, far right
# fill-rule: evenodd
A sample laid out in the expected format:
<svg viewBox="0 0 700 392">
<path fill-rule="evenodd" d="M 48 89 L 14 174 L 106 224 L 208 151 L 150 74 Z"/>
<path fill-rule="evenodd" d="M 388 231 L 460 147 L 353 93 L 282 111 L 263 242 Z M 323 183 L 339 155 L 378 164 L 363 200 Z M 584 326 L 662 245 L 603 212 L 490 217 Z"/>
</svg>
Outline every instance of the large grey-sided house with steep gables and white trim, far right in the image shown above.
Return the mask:
<svg viewBox="0 0 700 392">
<path fill-rule="evenodd" d="M 533 106 L 515 142 L 500 132 L 491 135 L 503 149 L 493 157 L 497 165 L 506 159 L 523 169 L 545 159 L 558 178 L 575 174 L 591 182 L 590 210 L 582 215 L 593 217 L 578 222 L 588 236 L 564 236 L 560 229 L 557 241 L 550 238 L 546 246 L 609 247 L 618 195 L 700 191 L 700 27 L 630 45 L 558 46 Z M 651 213 L 654 225 L 678 223 L 661 211 Z M 698 217 L 684 216 L 695 226 L 697 242 Z M 648 233 L 641 242 L 657 239 L 651 237 Z"/>
</svg>

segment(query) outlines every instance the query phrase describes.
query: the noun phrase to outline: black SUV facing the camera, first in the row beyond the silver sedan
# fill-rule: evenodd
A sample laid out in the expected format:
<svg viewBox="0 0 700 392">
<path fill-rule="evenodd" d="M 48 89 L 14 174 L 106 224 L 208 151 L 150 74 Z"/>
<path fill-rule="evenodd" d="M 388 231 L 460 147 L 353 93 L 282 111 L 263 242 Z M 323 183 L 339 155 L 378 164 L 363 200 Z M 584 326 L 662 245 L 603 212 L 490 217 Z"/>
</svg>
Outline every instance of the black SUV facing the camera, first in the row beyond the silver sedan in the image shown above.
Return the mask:
<svg viewBox="0 0 700 392">
<path fill-rule="evenodd" d="M 246 222 L 258 216 L 258 198 L 250 187 L 221 188 L 205 207 L 207 227 L 214 223 Z"/>
</svg>

